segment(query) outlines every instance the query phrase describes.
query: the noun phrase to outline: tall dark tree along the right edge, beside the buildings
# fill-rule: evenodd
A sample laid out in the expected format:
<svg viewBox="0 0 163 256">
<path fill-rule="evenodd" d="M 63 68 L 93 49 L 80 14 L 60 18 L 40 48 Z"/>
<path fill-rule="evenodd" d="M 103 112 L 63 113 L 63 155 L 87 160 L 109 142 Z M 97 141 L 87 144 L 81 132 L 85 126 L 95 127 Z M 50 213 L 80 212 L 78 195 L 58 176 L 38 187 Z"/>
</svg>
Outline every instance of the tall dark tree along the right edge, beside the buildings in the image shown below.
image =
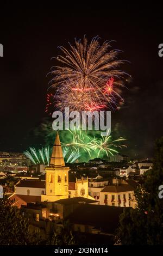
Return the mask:
<svg viewBox="0 0 163 256">
<path fill-rule="evenodd" d="M 163 245 L 163 199 L 158 196 L 163 185 L 163 137 L 156 141 L 153 168 L 135 191 L 135 209 L 125 209 L 120 216 L 116 239 L 122 245 Z"/>
</svg>

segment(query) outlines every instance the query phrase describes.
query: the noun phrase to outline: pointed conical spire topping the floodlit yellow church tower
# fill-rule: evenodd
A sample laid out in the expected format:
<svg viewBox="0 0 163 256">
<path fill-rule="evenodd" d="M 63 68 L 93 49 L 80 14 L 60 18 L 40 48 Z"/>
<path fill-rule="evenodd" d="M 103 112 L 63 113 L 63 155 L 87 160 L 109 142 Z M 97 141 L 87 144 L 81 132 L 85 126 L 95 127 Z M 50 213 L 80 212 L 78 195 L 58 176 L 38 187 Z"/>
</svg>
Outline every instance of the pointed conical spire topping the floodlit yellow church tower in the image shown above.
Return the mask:
<svg viewBox="0 0 163 256">
<path fill-rule="evenodd" d="M 61 149 L 58 132 L 57 132 L 57 136 L 55 137 L 55 142 L 54 142 L 54 146 L 53 146 L 50 164 L 54 164 L 54 166 L 56 166 L 56 167 L 65 166 L 65 161 L 64 161 L 64 157 L 62 155 L 62 149 Z"/>
</svg>

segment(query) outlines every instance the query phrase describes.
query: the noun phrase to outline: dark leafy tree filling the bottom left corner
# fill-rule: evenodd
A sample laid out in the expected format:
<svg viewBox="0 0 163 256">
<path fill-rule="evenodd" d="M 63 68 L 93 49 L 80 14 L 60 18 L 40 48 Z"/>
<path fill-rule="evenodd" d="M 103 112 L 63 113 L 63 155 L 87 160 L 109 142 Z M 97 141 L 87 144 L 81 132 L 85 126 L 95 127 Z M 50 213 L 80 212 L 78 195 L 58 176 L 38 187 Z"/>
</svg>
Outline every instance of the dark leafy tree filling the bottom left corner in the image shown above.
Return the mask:
<svg viewBox="0 0 163 256">
<path fill-rule="evenodd" d="M 39 245 L 39 230 L 30 231 L 29 218 L 11 207 L 7 198 L 0 199 L 0 245 Z"/>
</svg>

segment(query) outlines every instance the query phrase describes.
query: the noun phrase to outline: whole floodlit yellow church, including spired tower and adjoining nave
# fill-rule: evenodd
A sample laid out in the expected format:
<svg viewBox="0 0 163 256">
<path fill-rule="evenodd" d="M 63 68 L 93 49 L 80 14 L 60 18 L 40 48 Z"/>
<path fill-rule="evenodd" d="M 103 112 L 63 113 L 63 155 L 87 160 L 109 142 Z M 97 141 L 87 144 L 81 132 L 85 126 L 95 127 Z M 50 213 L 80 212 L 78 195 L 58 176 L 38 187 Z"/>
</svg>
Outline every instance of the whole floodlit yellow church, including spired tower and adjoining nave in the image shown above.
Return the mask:
<svg viewBox="0 0 163 256">
<path fill-rule="evenodd" d="M 58 133 L 55 138 L 50 164 L 45 170 L 45 180 L 25 175 L 23 177 L 25 179 L 17 182 L 15 193 L 10 196 L 10 200 L 14 202 L 14 205 L 17 205 L 17 201 L 18 206 L 20 206 L 21 202 L 23 205 L 27 205 L 29 202 L 34 202 L 34 199 L 37 202 L 55 202 L 59 199 L 73 197 L 93 199 L 89 196 L 88 178 L 82 177 L 74 182 L 68 182 L 69 167 L 65 167 Z"/>
</svg>

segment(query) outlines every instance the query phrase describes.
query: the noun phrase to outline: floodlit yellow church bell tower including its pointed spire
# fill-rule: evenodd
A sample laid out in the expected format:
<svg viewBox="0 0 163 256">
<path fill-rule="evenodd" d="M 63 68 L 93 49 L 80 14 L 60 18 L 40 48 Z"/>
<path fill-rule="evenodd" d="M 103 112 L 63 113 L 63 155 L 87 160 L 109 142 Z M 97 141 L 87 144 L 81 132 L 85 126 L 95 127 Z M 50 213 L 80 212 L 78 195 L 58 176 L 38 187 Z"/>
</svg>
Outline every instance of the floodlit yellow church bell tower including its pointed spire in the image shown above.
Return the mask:
<svg viewBox="0 0 163 256">
<path fill-rule="evenodd" d="M 65 167 L 58 132 L 53 146 L 51 162 L 45 170 L 46 194 L 42 194 L 41 201 L 54 202 L 59 199 L 68 198 L 69 167 Z"/>
</svg>

